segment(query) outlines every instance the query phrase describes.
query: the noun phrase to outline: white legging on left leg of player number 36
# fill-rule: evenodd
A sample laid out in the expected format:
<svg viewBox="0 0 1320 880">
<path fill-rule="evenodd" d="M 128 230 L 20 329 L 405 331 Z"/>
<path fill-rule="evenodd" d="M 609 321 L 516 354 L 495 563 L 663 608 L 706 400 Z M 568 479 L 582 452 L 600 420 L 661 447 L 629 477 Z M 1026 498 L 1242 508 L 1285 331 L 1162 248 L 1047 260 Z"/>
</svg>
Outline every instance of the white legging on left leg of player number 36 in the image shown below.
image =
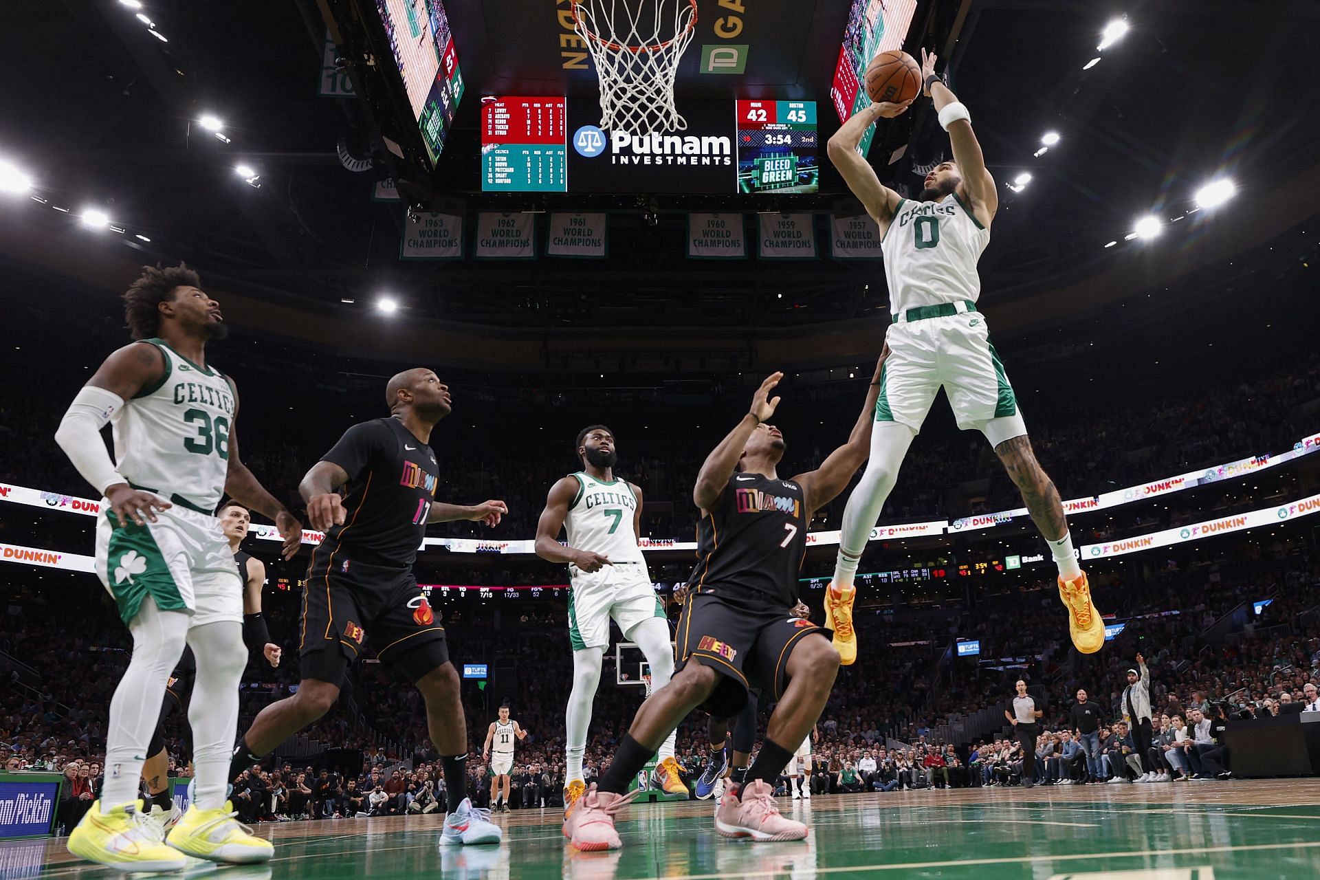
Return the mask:
<svg viewBox="0 0 1320 880">
<path fill-rule="evenodd" d="M 133 635 L 133 656 L 110 701 L 102 813 L 132 803 L 141 793 L 147 747 L 160 719 L 165 682 L 183 654 L 187 615 L 161 611 L 148 595 L 128 631 Z"/>
</svg>

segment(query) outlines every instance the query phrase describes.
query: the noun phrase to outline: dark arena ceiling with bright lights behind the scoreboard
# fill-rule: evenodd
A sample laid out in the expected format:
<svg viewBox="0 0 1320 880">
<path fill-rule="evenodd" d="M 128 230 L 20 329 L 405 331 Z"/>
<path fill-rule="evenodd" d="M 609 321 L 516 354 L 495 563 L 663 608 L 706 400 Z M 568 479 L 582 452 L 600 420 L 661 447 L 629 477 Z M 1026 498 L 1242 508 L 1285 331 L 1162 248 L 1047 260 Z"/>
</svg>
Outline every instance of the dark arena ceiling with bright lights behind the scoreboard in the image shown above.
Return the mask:
<svg viewBox="0 0 1320 880">
<path fill-rule="evenodd" d="M 490 327 L 754 332 L 883 321 L 883 273 L 874 264 L 688 260 L 685 212 L 748 210 L 738 197 L 660 198 L 651 227 L 644 201 L 632 197 L 482 195 L 480 94 L 593 88 L 590 70 L 565 70 L 561 5 L 447 1 L 467 98 L 440 173 L 451 193 L 467 195 L 470 211 L 609 210 L 605 261 L 400 263 L 403 207 L 371 201 L 379 169 L 346 168 L 368 153 L 364 108 L 318 96 L 325 25 L 312 0 L 144 0 L 136 12 L 117 0 L 66 0 L 11 11 L 22 38 L 11 42 L 9 55 L 22 86 L 0 99 L 0 157 L 26 169 L 50 201 L 75 211 L 102 206 L 150 241 L 98 237 L 74 228 L 71 215 L 24 202 L 7 207 L 7 223 L 49 232 L 54 244 L 42 253 L 28 239 L 21 248 L 0 240 L 0 251 L 5 260 L 55 270 L 70 243 L 116 248 L 136 263 L 185 259 L 234 289 L 345 315 L 389 290 L 414 317 Z M 850 3 L 734 5 L 744 9 L 747 74 L 701 78 L 685 65 L 680 90 L 814 98 L 828 136 L 830 77 Z M 701 0 L 698 28 L 713 28 L 727 11 Z M 1097 53 L 1100 32 L 1115 15 L 1126 15 L 1131 30 Z M 1001 187 L 981 264 L 985 302 L 1028 301 L 1125 265 L 1150 270 L 1230 253 L 1234 236 L 1216 239 L 1214 226 L 1233 223 L 1237 210 L 1188 216 L 1144 249 L 1123 241 L 1138 216 L 1171 220 L 1192 208 L 1192 194 L 1213 177 L 1232 177 L 1238 203 L 1261 208 L 1250 228 L 1257 240 L 1309 216 L 1313 198 L 1299 199 L 1298 187 L 1313 181 L 1320 164 L 1317 36 L 1320 7 L 1307 0 L 1133 0 L 1104 9 L 1088 0 L 923 0 L 909 47 L 935 46 L 949 59 L 952 84 L 972 108 L 999 182 L 1032 175 L 1022 191 Z M 1082 70 L 1101 54 L 1100 65 Z M 228 144 L 198 127 L 207 112 L 224 119 Z M 917 110 L 882 133 L 871 161 L 887 182 L 917 183 L 911 166 L 939 156 L 931 116 Z M 1034 157 L 1047 131 L 1061 140 Z M 260 189 L 235 174 L 240 164 L 259 170 Z M 804 197 L 813 210 L 832 210 L 846 197 L 828 166 L 821 190 Z M 1276 199 L 1287 203 L 1270 211 Z M 1208 248 L 1203 239 L 1214 239 L 1216 253 L 1196 253 Z M 1111 240 L 1119 244 L 1105 248 Z"/>
</svg>

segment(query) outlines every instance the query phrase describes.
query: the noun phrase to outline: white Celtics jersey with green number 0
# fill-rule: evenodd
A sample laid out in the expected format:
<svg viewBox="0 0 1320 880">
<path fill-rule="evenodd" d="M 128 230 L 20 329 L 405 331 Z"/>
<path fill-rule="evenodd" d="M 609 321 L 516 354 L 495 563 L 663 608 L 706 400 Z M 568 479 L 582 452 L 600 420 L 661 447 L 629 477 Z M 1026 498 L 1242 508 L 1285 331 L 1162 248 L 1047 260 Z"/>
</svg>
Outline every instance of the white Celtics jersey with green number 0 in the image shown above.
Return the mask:
<svg viewBox="0 0 1320 880">
<path fill-rule="evenodd" d="M 954 193 L 941 202 L 902 199 L 880 240 L 890 311 L 972 301 L 981 296 L 977 261 L 990 230 Z"/>
</svg>

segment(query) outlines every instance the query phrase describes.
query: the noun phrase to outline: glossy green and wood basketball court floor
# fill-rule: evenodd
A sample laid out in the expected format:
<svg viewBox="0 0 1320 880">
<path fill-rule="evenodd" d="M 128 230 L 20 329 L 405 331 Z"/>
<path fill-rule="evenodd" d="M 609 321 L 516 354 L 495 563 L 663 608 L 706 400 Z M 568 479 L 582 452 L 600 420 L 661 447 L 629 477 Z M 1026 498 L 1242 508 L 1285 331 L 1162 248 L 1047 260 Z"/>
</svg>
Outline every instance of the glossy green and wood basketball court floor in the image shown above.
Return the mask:
<svg viewBox="0 0 1320 880">
<path fill-rule="evenodd" d="M 499 817 L 504 843 L 438 852 L 436 818 L 265 825 L 269 865 L 185 876 L 305 880 L 1302 880 L 1320 876 L 1320 781 L 973 789 L 780 801 L 808 818 L 796 843 L 725 840 L 713 802 L 630 807 L 624 848 L 565 847 L 557 809 Z M 112 877 L 63 839 L 0 843 L 0 877 Z M 178 876 L 178 875 L 176 875 Z"/>
</svg>

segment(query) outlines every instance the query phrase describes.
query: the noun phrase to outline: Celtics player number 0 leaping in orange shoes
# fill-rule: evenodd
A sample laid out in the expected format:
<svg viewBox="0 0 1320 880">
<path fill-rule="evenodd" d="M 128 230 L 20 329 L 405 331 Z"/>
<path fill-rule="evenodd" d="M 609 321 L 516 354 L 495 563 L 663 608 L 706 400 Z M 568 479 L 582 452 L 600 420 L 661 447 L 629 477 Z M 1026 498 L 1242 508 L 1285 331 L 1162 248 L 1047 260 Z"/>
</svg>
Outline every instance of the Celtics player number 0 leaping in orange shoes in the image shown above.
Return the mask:
<svg viewBox="0 0 1320 880">
<path fill-rule="evenodd" d="M 871 104 L 829 140 L 830 160 L 880 228 L 894 323 L 886 334 L 891 356 L 880 380 L 871 459 L 843 511 L 838 561 L 825 592 L 825 625 L 834 631 L 842 662 L 851 664 L 857 658 L 857 566 L 898 480 L 903 456 L 942 385 L 958 427 L 983 433 L 1020 489 L 1059 566 L 1059 598 L 1068 608 L 1073 645 L 1094 653 L 1105 644 L 1105 624 L 1077 565 L 1059 491 L 1036 462 L 1012 385 L 990 344 L 985 317 L 977 311 L 977 261 L 990 243 L 999 197 L 972 131 L 970 113 L 935 75 L 935 55 L 921 51 L 925 94 L 935 100 L 940 125 L 949 132 L 953 161 L 927 174 L 917 201 L 883 186 L 857 152 L 871 123 L 903 113 L 911 102 Z"/>
</svg>

